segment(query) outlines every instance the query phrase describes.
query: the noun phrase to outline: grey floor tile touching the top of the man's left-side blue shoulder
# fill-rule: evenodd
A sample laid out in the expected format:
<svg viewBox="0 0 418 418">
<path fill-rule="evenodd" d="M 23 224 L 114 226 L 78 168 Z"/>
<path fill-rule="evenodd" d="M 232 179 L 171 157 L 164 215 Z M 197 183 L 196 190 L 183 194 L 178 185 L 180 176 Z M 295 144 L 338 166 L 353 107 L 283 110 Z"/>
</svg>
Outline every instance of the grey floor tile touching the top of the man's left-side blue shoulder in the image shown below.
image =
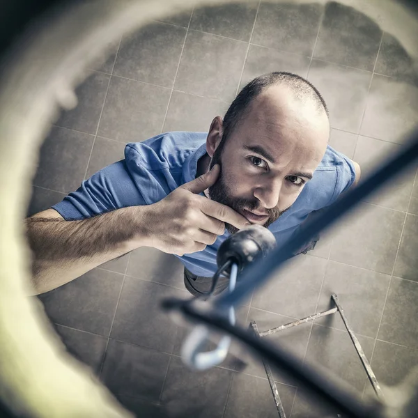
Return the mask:
<svg viewBox="0 0 418 418">
<path fill-rule="evenodd" d="M 169 98 L 169 88 L 111 77 L 98 134 L 124 142 L 155 136 L 161 132 Z"/>
</svg>

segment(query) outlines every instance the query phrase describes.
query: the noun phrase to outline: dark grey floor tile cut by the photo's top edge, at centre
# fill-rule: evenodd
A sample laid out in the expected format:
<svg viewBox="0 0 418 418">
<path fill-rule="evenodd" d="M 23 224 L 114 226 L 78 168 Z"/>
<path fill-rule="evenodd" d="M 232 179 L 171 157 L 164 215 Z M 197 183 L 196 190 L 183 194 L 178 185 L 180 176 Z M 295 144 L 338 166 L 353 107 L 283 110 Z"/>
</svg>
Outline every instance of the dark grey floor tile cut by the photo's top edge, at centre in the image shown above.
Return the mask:
<svg viewBox="0 0 418 418">
<path fill-rule="evenodd" d="M 251 0 L 195 8 L 190 29 L 249 42 L 256 12 L 257 3 Z"/>
</svg>

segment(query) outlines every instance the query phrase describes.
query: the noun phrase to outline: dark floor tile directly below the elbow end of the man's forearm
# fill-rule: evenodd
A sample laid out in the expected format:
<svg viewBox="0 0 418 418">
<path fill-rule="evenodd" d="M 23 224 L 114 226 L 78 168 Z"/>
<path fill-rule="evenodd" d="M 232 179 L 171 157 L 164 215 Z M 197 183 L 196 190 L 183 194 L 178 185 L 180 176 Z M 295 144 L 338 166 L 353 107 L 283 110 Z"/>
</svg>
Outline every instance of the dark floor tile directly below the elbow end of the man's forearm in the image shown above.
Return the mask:
<svg viewBox="0 0 418 418">
<path fill-rule="evenodd" d="M 93 269 L 39 299 L 53 323 L 108 336 L 123 275 Z"/>
</svg>

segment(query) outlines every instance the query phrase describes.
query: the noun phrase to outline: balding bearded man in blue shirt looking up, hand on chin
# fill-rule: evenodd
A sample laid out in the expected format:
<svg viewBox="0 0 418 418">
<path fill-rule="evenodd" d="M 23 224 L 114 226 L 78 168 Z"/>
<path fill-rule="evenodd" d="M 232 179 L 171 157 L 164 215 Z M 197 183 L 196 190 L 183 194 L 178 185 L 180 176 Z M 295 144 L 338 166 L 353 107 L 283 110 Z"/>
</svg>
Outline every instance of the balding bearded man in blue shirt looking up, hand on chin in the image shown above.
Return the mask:
<svg viewBox="0 0 418 418">
<path fill-rule="evenodd" d="M 35 292 L 147 246 L 178 256 L 187 290 L 205 293 L 231 233 L 260 224 L 281 245 L 358 182 L 358 164 L 327 145 L 329 134 L 316 88 L 272 72 L 247 84 L 208 134 L 168 132 L 127 144 L 125 160 L 26 219 Z M 215 293 L 226 286 L 222 278 Z"/>
</svg>

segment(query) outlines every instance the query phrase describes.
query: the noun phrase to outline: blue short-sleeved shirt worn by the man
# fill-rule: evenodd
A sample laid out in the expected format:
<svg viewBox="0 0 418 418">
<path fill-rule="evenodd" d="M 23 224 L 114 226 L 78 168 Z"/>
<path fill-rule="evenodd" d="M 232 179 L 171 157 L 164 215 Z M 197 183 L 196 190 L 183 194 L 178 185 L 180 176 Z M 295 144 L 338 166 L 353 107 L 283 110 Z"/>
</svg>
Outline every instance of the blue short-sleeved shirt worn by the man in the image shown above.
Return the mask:
<svg viewBox="0 0 418 418">
<path fill-rule="evenodd" d="M 125 159 L 84 180 L 76 192 L 52 206 L 64 219 L 84 219 L 136 205 L 151 205 L 196 176 L 197 162 L 206 154 L 206 132 L 167 132 L 125 146 Z M 268 229 L 278 245 L 297 233 L 310 212 L 331 205 L 355 180 L 353 162 L 331 146 L 293 206 Z M 203 194 L 202 194 L 203 195 Z M 194 274 L 211 277 L 217 270 L 219 236 L 203 251 L 179 257 Z"/>
</svg>

